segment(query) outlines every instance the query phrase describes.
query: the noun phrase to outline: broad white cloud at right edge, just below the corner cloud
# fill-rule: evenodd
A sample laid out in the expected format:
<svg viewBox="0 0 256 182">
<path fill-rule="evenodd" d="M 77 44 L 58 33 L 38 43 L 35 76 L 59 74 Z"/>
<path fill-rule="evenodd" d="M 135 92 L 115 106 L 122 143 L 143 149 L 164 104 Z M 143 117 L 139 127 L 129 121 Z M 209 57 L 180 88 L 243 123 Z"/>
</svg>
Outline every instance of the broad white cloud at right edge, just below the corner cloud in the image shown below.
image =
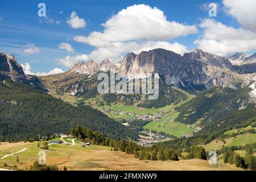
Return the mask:
<svg viewBox="0 0 256 182">
<path fill-rule="evenodd" d="M 204 51 L 226 55 L 253 51 L 256 48 L 255 32 L 229 27 L 213 19 L 203 19 L 200 27 L 203 28 L 203 37 L 195 43 Z"/>
</svg>

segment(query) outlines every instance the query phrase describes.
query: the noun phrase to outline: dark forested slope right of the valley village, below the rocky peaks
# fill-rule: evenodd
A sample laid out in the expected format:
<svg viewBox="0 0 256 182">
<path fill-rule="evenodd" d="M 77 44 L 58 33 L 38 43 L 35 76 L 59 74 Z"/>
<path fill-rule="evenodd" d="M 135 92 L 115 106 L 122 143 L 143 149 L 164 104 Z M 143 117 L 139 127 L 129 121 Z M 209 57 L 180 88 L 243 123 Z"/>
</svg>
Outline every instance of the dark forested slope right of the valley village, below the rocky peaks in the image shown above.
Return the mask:
<svg viewBox="0 0 256 182">
<path fill-rule="evenodd" d="M 217 122 L 225 115 L 234 111 L 255 107 L 250 100 L 250 88 L 212 88 L 201 92 L 191 101 L 177 108 L 180 112 L 177 122 L 194 123 L 200 122 L 201 126 L 206 123 Z"/>
</svg>

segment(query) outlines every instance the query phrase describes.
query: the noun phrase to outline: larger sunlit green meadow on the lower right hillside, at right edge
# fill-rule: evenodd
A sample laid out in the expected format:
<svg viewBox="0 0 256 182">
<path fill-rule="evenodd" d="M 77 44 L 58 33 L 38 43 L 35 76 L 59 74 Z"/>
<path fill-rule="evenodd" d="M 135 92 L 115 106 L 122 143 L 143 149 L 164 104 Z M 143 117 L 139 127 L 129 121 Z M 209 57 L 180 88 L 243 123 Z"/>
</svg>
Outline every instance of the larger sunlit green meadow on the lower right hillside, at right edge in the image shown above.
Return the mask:
<svg viewBox="0 0 256 182">
<path fill-rule="evenodd" d="M 212 140 L 212 142 L 204 145 L 203 147 L 207 151 L 220 149 L 222 146 L 245 146 L 245 144 L 256 142 L 256 134 L 245 133 L 237 135 L 236 138 L 228 138 L 225 140 L 226 143 L 219 139 Z"/>
</svg>

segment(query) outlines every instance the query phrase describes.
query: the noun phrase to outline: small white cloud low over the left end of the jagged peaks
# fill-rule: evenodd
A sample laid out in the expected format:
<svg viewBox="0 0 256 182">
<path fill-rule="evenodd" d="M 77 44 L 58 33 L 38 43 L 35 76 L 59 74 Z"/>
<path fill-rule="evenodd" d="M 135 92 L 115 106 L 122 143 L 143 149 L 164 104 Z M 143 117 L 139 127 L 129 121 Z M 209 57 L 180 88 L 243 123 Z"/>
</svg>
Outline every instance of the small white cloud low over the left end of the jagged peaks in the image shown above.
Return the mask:
<svg viewBox="0 0 256 182">
<path fill-rule="evenodd" d="M 71 68 L 73 65 L 79 61 L 89 60 L 88 55 L 76 55 L 76 56 L 66 56 L 63 59 L 56 59 L 56 61 L 63 65 L 64 67 Z"/>
</svg>

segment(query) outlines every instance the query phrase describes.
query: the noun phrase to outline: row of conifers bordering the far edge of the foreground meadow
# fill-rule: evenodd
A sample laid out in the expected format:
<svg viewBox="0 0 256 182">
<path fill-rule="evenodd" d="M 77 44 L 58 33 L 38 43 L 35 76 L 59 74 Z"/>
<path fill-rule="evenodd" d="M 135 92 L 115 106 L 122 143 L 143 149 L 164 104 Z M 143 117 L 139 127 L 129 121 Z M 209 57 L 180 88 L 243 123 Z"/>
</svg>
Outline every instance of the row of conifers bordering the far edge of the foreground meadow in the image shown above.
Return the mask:
<svg viewBox="0 0 256 182">
<path fill-rule="evenodd" d="M 69 130 L 69 133 L 77 137 L 83 142 L 91 142 L 92 144 L 113 147 L 114 151 L 126 152 L 133 154 L 139 160 L 179 160 L 182 149 L 172 149 L 168 146 L 154 145 L 152 147 L 139 146 L 137 143 L 129 140 L 117 140 L 104 137 L 97 131 L 92 131 L 85 127 L 75 127 Z M 188 149 L 192 158 L 207 159 L 207 155 L 203 147 L 193 146 Z"/>
</svg>

